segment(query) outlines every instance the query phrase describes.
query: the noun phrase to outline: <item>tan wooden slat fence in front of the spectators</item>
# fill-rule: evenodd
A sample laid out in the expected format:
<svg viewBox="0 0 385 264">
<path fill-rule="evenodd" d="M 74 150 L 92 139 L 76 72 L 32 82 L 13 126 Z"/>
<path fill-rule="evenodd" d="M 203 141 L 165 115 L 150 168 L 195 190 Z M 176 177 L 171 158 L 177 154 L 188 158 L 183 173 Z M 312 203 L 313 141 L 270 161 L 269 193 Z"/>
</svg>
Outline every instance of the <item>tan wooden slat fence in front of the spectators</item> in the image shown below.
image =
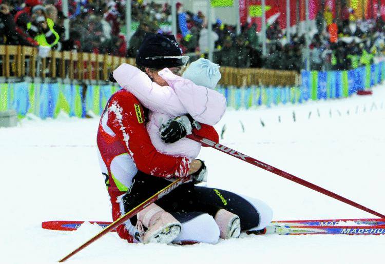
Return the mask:
<svg viewBox="0 0 385 264">
<path fill-rule="evenodd" d="M 69 78 L 76 80 L 107 80 L 108 73 L 122 63 L 135 64 L 134 58 L 73 51 L 49 51 L 46 58 L 38 56 L 38 49 L 25 46 L 0 45 L 2 77 Z M 295 71 L 253 68 L 220 68 L 221 85 L 236 87 L 293 86 L 298 84 Z"/>
</svg>

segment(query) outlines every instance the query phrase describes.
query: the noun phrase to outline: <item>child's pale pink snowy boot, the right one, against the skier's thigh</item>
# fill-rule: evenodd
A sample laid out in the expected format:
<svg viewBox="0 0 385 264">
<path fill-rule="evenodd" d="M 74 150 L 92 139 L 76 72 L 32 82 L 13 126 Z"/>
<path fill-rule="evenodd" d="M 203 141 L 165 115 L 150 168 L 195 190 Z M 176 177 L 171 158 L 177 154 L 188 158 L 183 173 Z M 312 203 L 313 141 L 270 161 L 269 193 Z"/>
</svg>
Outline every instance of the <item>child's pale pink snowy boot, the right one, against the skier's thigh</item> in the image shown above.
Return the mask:
<svg viewBox="0 0 385 264">
<path fill-rule="evenodd" d="M 219 227 L 219 236 L 221 238 L 237 238 L 241 234 L 241 220 L 238 215 L 225 209 L 220 209 L 216 213 L 214 219 Z"/>
</svg>

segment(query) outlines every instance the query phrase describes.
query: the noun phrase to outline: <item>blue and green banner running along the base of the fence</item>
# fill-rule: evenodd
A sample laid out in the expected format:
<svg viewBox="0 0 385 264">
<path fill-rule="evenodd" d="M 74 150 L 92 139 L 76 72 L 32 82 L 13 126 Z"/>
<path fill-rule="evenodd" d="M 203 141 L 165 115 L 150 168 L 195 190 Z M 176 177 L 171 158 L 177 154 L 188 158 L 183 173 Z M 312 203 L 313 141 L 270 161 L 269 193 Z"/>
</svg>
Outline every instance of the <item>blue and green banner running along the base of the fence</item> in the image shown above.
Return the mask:
<svg viewBox="0 0 385 264">
<path fill-rule="evenodd" d="M 384 78 L 385 65 L 381 62 L 349 71 L 302 71 L 299 87 L 219 86 L 216 90 L 226 97 L 228 107 L 249 109 L 348 97 Z M 43 119 L 56 118 L 61 112 L 77 117 L 85 117 L 90 111 L 100 115 L 119 89 L 111 85 L 5 83 L 0 84 L 0 111 L 15 109 L 20 118 L 30 113 Z"/>
</svg>

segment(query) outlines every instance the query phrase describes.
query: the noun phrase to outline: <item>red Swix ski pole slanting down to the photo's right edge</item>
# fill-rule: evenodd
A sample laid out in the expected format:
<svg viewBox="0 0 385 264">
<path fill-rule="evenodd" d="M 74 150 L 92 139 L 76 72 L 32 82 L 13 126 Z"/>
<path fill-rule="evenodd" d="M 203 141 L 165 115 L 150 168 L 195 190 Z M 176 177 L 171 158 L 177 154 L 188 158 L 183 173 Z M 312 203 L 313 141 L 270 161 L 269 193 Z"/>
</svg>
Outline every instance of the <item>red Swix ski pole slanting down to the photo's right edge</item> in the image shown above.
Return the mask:
<svg viewBox="0 0 385 264">
<path fill-rule="evenodd" d="M 361 210 L 363 210 L 365 212 L 374 214 L 374 215 L 376 215 L 378 217 L 385 218 L 385 215 L 380 214 L 380 213 L 378 213 L 378 212 L 376 212 L 376 211 L 374 211 L 372 209 L 369 209 L 367 207 L 364 207 L 364 206 L 362 206 L 360 204 L 357 204 L 357 202 L 355 202 L 355 201 L 349 200 L 349 199 L 347 199 L 345 197 L 342 197 L 342 196 L 340 196 L 340 195 L 338 195 L 338 194 L 336 194 L 334 192 L 328 191 L 328 190 L 326 190 L 326 189 L 324 189 L 322 187 L 319 187 L 319 186 L 317 186 L 315 184 L 312 184 L 309 181 L 306 181 L 304 179 L 298 178 L 298 177 L 294 176 L 293 174 L 284 172 L 284 171 L 282 171 L 280 169 L 277 169 L 277 168 L 275 168 L 275 167 L 273 167 L 271 165 L 268 165 L 268 164 L 266 164 L 266 163 L 264 163 L 264 162 L 262 162 L 262 161 L 260 161 L 258 159 L 249 157 L 249 156 L 247 156 L 245 154 L 242 154 L 241 152 L 238 152 L 236 150 L 230 149 L 230 148 L 228 148 L 226 146 L 223 146 L 223 145 L 221 145 L 221 144 L 219 144 L 217 142 L 211 141 L 211 140 L 209 140 L 207 138 L 204 138 L 204 137 L 201 137 L 201 136 L 198 136 L 198 135 L 195 135 L 195 134 L 188 135 L 187 137 L 192 139 L 192 140 L 195 140 L 195 141 L 197 141 L 199 143 L 208 145 L 209 147 L 217 149 L 217 150 L 219 150 L 219 151 L 221 151 L 223 153 L 226 153 L 226 154 L 228 154 L 230 156 L 233 156 L 233 157 L 239 158 L 239 159 L 241 159 L 243 161 L 246 161 L 247 163 L 252 164 L 254 166 L 257 166 L 257 167 L 259 167 L 261 169 L 264 169 L 266 171 L 269 171 L 269 172 L 272 172 L 274 174 L 277 174 L 278 176 L 281 176 L 281 177 L 286 178 L 288 180 L 297 182 L 297 184 L 303 185 L 303 186 L 305 186 L 307 188 L 310 188 L 310 189 L 312 189 L 314 191 L 317 191 L 317 192 L 320 192 L 322 194 L 328 195 L 328 196 L 330 196 L 330 197 L 332 197 L 334 199 L 337 199 L 339 201 L 344 202 L 345 204 L 354 206 L 354 207 L 356 207 L 358 209 L 361 209 Z"/>
</svg>

